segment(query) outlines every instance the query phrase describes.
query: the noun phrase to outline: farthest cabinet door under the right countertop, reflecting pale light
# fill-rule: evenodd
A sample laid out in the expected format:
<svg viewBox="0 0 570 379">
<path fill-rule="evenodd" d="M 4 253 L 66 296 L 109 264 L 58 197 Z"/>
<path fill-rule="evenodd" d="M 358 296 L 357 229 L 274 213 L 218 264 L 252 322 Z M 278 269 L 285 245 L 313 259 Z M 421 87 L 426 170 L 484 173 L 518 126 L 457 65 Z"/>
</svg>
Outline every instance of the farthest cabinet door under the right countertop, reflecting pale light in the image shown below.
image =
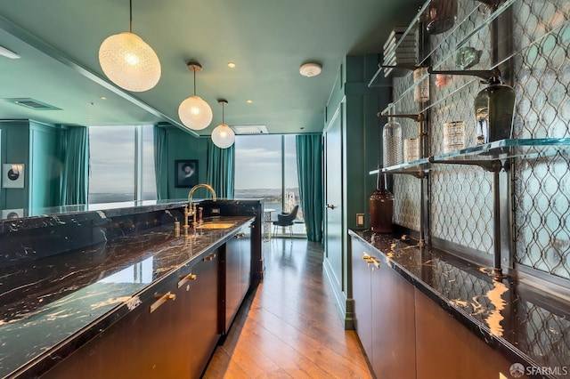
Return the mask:
<svg viewBox="0 0 570 379">
<path fill-rule="evenodd" d="M 366 259 L 370 250 L 354 238 L 351 241 L 354 328 L 369 361 L 372 361 L 371 269 Z"/>
</svg>

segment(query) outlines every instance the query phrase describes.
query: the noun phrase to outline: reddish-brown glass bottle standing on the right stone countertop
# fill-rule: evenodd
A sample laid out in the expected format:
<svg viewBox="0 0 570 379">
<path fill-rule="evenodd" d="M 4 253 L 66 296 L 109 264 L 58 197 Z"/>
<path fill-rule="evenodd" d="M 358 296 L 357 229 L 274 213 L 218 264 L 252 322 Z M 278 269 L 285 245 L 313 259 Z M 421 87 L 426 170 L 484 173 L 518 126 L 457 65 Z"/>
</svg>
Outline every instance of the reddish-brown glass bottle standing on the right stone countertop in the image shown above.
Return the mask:
<svg viewBox="0 0 570 379">
<path fill-rule="evenodd" d="M 394 217 L 394 195 L 386 189 L 386 178 L 379 168 L 376 189 L 368 200 L 371 230 L 374 233 L 393 233 L 392 218 Z"/>
</svg>

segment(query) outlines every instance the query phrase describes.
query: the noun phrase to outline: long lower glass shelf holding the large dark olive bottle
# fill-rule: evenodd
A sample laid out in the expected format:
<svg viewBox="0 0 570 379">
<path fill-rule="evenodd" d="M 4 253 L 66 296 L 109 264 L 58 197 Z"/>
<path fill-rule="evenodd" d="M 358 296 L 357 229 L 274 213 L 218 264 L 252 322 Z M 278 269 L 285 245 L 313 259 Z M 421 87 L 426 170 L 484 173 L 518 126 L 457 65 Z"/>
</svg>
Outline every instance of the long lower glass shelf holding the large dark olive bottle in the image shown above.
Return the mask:
<svg viewBox="0 0 570 379">
<path fill-rule="evenodd" d="M 427 157 L 402 165 L 391 165 L 384 168 L 384 173 L 428 173 L 433 167 L 431 164 L 476 165 L 477 163 L 491 162 L 513 157 L 534 159 L 550 157 L 558 152 L 570 152 L 570 138 L 541 138 L 521 140 L 501 140 L 460 149 L 435 157 Z M 377 174 L 379 170 L 371 171 Z"/>
</svg>

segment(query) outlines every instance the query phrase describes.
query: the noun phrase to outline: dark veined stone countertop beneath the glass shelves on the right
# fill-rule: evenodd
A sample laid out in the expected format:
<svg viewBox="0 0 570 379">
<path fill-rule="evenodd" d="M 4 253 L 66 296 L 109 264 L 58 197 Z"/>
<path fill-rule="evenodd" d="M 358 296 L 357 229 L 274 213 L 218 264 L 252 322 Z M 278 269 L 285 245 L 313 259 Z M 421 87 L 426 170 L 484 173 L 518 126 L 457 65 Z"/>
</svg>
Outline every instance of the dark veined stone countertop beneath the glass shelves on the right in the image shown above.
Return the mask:
<svg viewBox="0 0 570 379">
<path fill-rule="evenodd" d="M 511 361 L 534 367 L 570 364 L 570 304 L 563 299 L 512 278 L 493 280 L 490 268 L 420 249 L 415 241 L 370 230 L 349 234 Z"/>
</svg>

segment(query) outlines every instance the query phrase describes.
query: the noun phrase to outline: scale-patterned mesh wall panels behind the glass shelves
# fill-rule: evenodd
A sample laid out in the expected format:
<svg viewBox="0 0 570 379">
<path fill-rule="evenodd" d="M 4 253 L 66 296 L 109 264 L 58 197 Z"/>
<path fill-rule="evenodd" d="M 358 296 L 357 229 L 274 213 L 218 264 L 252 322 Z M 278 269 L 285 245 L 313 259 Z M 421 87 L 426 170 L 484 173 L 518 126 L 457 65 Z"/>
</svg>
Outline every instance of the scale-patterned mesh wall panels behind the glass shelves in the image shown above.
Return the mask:
<svg viewBox="0 0 570 379">
<path fill-rule="evenodd" d="M 570 2 L 517 0 L 512 11 L 512 48 L 500 57 L 513 67 L 517 93 L 513 138 L 570 137 Z M 488 27 L 476 30 L 490 15 L 485 5 L 458 1 L 455 27 L 429 36 L 431 65 L 458 69 L 455 46 L 480 51 L 480 62 L 470 69 L 490 69 Z M 499 22 L 505 21 L 501 16 Z M 474 77 L 452 77 L 444 88 L 431 76 L 429 155 L 444 152 L 444 123 L 463 121 L 468 146 L 475 144 L 473 101 L 485 85 Z M 393 78 L 393 97 L 401 98 L 411 76 Z M 396 104 L 399 112 L 418 111 L 412 92 Z M 418 125 L 399 119 L 404 138 L 417 136 Z M 570 278 L 570 173 L 568 152 L 550 157 L 516 159 L 511 173 L 513 188 L 512 234 L 515 262 L 536 270 Z M 431 235 L 493 254 L 493 174 L 476 166 L 435 165 L 430 173 Z M 395 222 L 419 230 L 420 181 L 394 175 Z M 503 226 L 504 227 L 504 226 Z"/>
</svg>

